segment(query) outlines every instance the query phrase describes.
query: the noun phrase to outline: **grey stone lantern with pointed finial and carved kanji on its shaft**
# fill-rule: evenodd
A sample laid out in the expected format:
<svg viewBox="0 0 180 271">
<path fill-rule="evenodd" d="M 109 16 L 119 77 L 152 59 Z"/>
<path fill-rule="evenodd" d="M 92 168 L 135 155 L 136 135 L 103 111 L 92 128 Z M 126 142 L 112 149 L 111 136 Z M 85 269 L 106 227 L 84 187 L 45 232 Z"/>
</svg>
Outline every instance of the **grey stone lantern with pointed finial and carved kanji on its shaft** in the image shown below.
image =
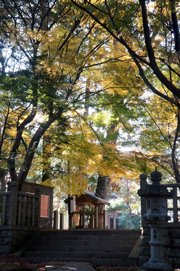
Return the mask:
<svg viewBox="0 0 180 271">
<path fill-rule="evenodd" d="M 147 263 L 140 267 L 140 271 L 153 271 L 153 270 L 174 270 L 172 267 L 165 263 L 163 259 L 163 227 L 170 220 L 167 215 L 167 198 L 174 196 L 174 191 L 168 192 L 168 189 L 160 184 L 162 174 L 155 168 L 151 173 L 152 184 L 147 184 L 144 191 L 138 190 L 140 197 L 146 197 L 147 210 L 143 219 L 147 221 L 151 229 L 151 258 Z"/>
</svg>

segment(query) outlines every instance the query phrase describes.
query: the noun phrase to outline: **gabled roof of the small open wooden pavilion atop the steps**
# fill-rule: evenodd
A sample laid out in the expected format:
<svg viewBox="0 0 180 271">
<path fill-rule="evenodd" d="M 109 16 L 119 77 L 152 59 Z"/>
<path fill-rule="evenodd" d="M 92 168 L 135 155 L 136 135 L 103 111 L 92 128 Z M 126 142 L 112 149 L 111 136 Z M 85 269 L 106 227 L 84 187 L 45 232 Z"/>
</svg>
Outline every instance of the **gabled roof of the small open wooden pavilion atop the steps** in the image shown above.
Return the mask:
<svg viewBox="0 0 180 271">
<path fill-rule="evenodd" d="M 65 203 L 68 203 L 68 199 L 65 199 Z M 84 190 L 84 194 L 76 197 L 76 205 L 81 206 L 83 202 L 89 202 L 93 205 L 110 205 L 110 203 L 100 197 L 97 196 L 96 193 Z"/>
</svg>

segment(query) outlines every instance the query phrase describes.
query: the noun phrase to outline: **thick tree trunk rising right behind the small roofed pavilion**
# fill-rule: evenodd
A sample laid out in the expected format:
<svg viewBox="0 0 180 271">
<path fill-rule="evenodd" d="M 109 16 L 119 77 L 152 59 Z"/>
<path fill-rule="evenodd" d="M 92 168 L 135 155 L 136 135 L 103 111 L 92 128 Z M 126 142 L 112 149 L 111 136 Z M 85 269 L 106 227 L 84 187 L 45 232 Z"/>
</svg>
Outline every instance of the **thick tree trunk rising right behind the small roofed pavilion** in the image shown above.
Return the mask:
<svg viewBox="0 0 180 271">
<path fill-rule="evenodd" d="M 99 197 L 102 199 L 107 199 L 107 192 L 109 189 L 109 184 L 110 184 L 110 177 L 109 176 L 98 176 L 97 179 L 97 187 L 96 187 L 96 193 Z M 104 209 L 104 204 L 98 206 L 98 213 L 102 214 Z M 99 229 L 103 228 L 103 216 L 98 216 L 98 221 L 97 221 L 97 226 Z"/>
</svg>

